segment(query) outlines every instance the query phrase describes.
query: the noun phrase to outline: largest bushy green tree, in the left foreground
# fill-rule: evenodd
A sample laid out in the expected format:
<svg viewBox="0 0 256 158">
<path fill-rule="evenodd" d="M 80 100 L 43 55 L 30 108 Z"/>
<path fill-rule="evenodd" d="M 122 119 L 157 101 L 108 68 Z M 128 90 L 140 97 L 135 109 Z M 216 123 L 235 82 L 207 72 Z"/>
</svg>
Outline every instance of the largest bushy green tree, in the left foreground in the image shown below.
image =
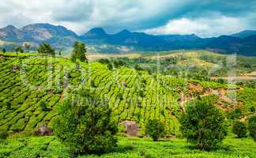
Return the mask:
<svg viewBox="0 0 256 158">
<path fill-rule="evenodd" d="M 107 102 L 79 91 L 65 100 L 54 124 L 56 136 L 74 153 L 109 152 L 116 145 L 116 123 Z"/>
</svg>

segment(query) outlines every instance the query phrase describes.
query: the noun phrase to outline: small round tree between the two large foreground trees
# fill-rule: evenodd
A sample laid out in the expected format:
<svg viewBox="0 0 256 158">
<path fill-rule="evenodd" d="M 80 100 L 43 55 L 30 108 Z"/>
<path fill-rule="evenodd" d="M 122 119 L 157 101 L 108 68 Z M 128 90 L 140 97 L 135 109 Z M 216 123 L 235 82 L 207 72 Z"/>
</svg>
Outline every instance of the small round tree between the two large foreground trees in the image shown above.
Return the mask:
<svg viewBox="0 0 256 158">
<path fill-rule="evenodd" d="M 145 128 L 146 134 L 149 134 L 153 141 L 157 141 L 159 137 L 164 136 L 164 124 L 157 119 L 149 120 Z"/>
</svg>

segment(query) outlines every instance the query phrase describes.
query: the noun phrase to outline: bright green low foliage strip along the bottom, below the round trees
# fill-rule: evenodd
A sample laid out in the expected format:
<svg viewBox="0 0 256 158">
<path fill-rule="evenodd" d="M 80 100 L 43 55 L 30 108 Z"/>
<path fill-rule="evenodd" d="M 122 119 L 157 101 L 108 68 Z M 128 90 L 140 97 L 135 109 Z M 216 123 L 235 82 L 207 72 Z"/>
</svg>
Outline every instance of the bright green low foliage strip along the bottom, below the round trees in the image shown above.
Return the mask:
<svg viewBox="0 0 256 158">
<path fill-rule="evenodd" d="M 251 137 L 235 138 L 229 134 L 212 151 L 201 151 L 186 143 L 185 139 L 152 141 L 149 138 L 119 137 L 113 152 L 87 157 L 248 157 L 256 156 L 256 142 Z M 54 136 L 10 138 L 0 144 L 0 157 L 72 157 L 69 149 Z"/>
</svg>

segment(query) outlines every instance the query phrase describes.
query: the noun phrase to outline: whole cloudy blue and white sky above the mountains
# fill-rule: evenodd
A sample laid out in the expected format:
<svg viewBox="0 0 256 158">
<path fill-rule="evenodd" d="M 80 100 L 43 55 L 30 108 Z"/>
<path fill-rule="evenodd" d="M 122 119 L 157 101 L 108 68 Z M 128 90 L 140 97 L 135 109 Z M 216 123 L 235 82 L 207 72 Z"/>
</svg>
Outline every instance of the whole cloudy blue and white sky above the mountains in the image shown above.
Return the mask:
<svg viewBox="0 0 256 158">
<path fill-rule="evenodd" d="M 152 34 L 220 36 L 256 30 L 255 0 L 1 0 L 0 27 L 60 24 L 78 34 L 93 27 Z"/>
</svg>

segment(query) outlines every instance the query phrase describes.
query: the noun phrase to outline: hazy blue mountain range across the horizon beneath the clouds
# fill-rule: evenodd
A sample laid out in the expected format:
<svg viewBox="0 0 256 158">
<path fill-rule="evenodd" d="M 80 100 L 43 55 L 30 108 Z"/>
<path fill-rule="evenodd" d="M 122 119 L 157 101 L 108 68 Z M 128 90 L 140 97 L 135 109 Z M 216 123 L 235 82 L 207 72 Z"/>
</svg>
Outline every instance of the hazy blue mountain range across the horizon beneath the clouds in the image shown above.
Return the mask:
<svg viewBox="0 0 256 158">
<path fill-rule="evenodd" d="M 149 35 L 145 32 L 122 30 L 108 34 L 103 28 L 92 28 L 77 35 L 53 24 L 28 24 L 23 28 L 8 25 L 0 28 L 0 47 L 11 50 L 16 45 L 30 43 L 36 49 L 40 43 L 50 43 L 55 49 L 70 51 L 75 41 L 87 44 L 88 51 L 119 53 L 126 51 L 169 51 L 177 49 L 203 49 L 225 54 L 256 56 L 256 31 L 245 30 L 229 36 L 201 38 L 191 35 Z"/>
</svg>

